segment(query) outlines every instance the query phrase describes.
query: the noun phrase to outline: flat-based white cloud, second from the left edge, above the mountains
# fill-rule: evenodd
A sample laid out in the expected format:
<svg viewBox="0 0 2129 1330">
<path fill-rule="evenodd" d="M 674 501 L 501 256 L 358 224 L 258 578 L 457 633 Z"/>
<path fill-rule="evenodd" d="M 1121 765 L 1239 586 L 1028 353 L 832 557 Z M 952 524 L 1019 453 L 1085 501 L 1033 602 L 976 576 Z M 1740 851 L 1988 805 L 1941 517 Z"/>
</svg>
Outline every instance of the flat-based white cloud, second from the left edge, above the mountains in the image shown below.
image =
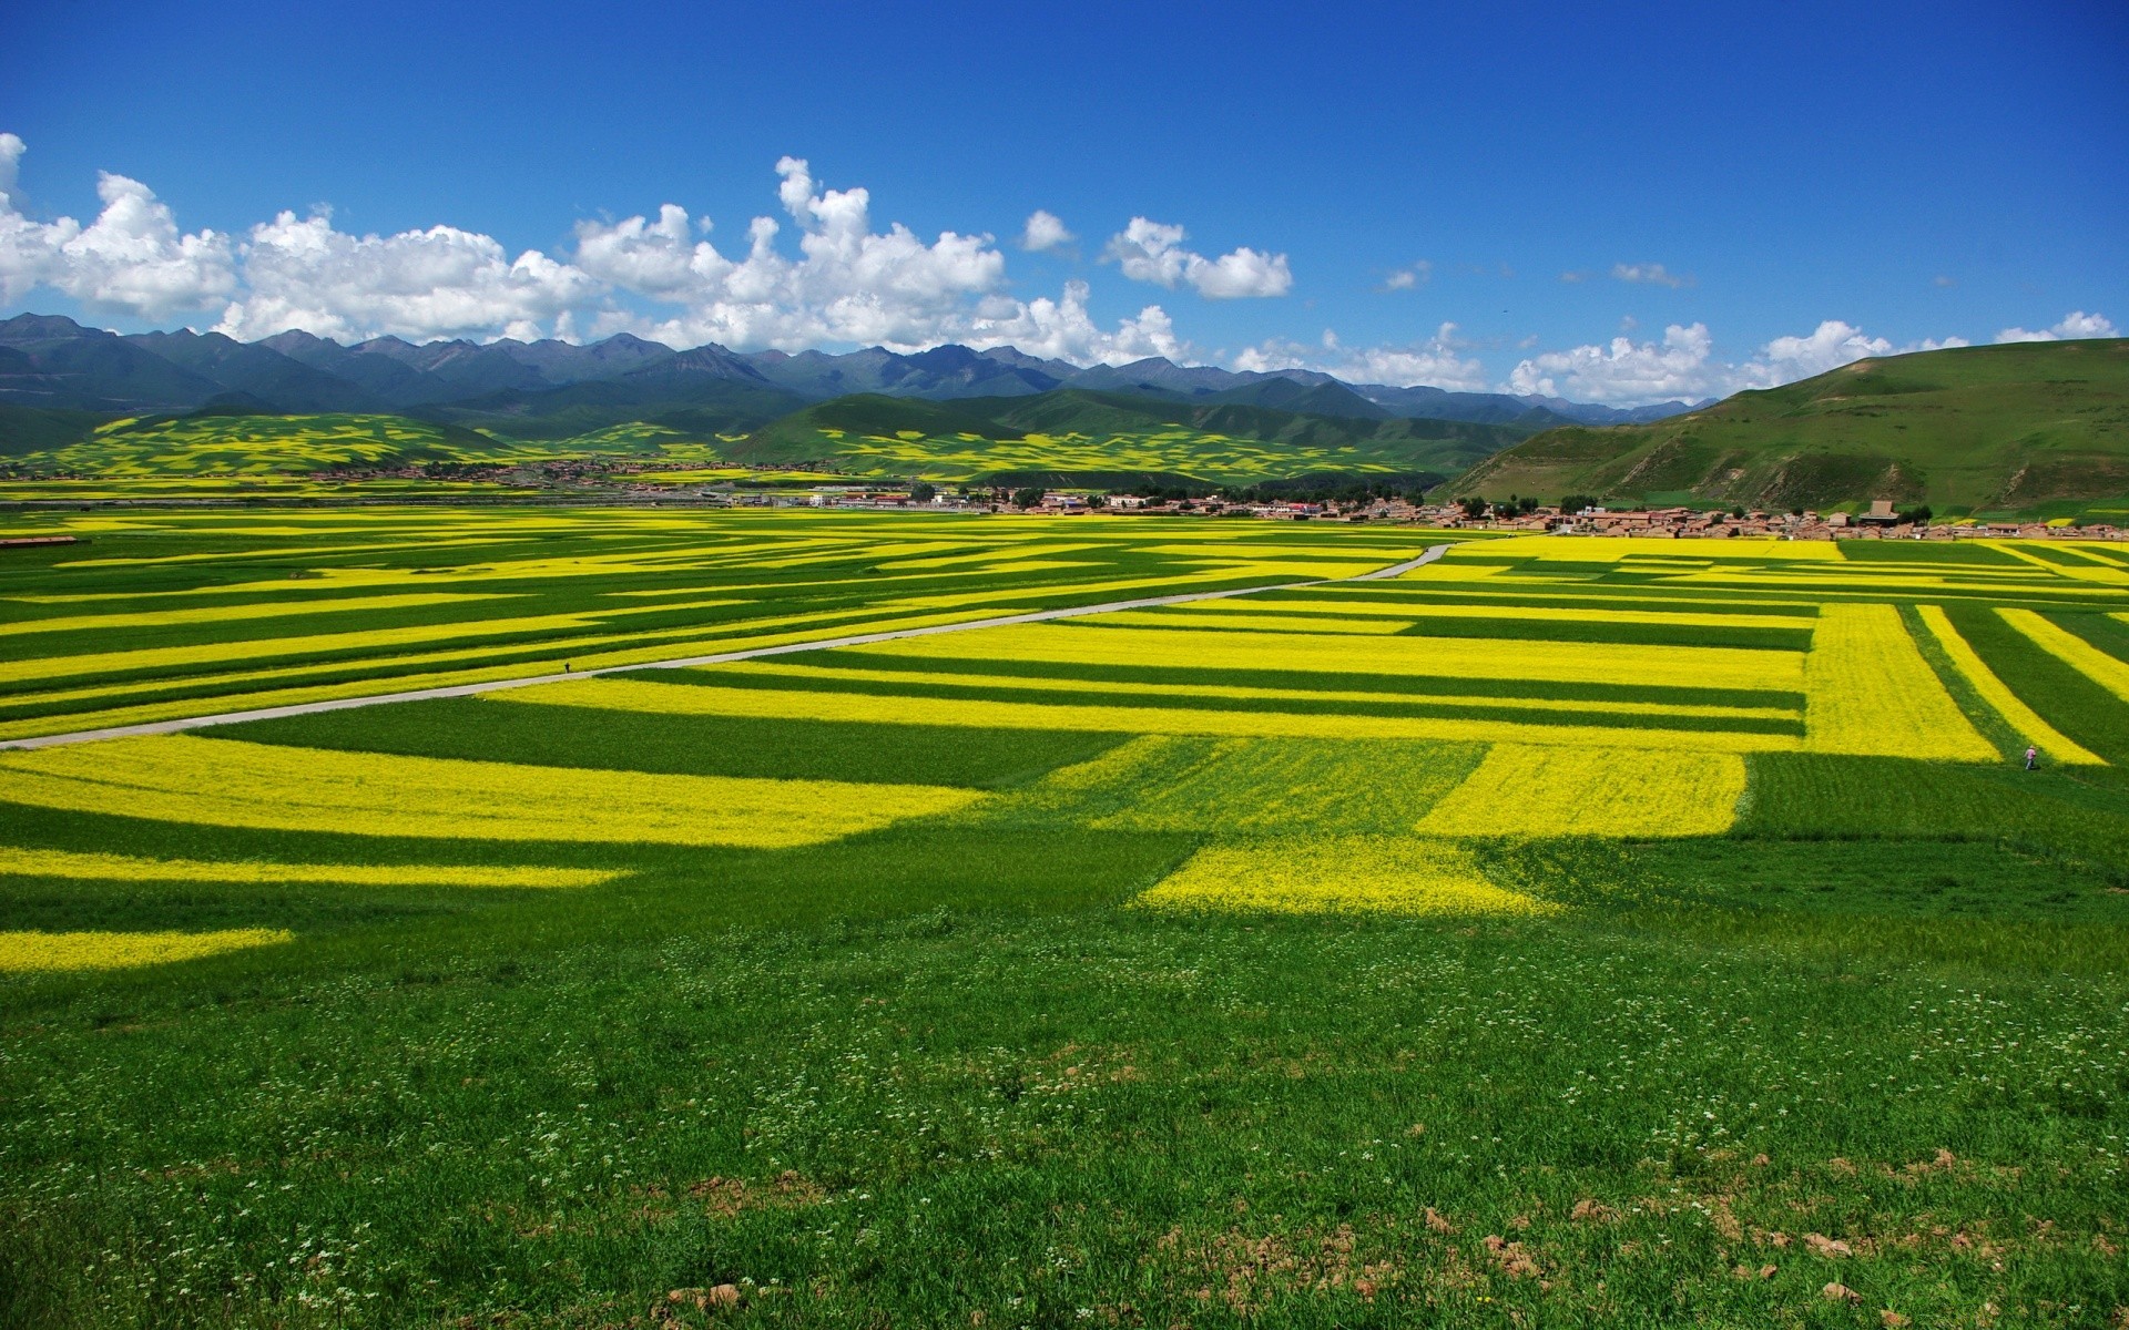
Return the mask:
<svg viewBox="0 0 2129 1330">
<path fill-rule="evenodd" d="M 249 292 L 217 332 L 260 338 L 287 328 L 317 336 L 541 336 L 541 326 L 598 294 L 581 268 L 537 249 L 515 260 L 492 236 L 451 226 L 353 236 L 330 213 L 281 213 L 243 247 Z"/>
</svg>

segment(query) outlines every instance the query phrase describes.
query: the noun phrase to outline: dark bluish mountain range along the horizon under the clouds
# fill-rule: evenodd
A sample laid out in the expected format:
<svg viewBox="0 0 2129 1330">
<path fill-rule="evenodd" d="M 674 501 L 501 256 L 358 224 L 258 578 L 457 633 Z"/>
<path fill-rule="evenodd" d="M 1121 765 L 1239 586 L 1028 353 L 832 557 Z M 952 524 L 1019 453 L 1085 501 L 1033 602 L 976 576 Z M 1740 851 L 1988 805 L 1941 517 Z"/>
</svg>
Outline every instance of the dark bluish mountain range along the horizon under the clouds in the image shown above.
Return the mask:
<svg viewBox="0 0 2129 1330">
<path fill-rule="evenodd" d="M 77 426 L 141 413 L 390 413 L 513 438 L 571 438 L 643 421 L 741 434 L 852 394 L 1022 398 L 1086 389 L 1169 404 L 1262 406 L 1299 415 L 1503 426 L 1516 434 L 1582 423 L 1639 423 L 1690 411 L 1631 411 L 1558 398 L 1346 383 L 1314 370 L 1235 372 L 1162 358 L 1075 366 L 1011 347 L 947 345 L 898 353 L 675 351 L 630 334 L 560 340 L 341 345 L 309 332 L 238 343 L 219 332 L 115 334 L 62 315 L 0 321 L 0 455 L 49 447 Z"/>
</svg>

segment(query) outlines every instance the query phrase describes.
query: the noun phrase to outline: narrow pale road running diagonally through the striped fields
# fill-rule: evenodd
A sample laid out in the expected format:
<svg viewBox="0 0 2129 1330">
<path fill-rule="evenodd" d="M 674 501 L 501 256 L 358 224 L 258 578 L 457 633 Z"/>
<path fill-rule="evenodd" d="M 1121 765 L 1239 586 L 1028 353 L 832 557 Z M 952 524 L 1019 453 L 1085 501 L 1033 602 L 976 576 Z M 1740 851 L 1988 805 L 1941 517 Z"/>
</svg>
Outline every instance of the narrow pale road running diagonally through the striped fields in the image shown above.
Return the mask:
<svg viewBox="0 0 2129 1330">
<path fill-rule="evenodd" d="M 1152 609 L 1158 604 L 1190 604 L 1192 600 L 1224 600 L 1228 596 L 1256 596 L 1258 592 L 1294 592 L 1301 587 L 1331 587 L 1348 581 L 1382 581 L 1401 577 L 1433 564 L 1448 545 L 1429 545 L 1426 553 L 1403 564 L 1360 572 L 1358 577 L 1324 577 L 1316 581 L 1282 581 L 1262 587 L 1228 587 L 1224 592 L 1184 592 L 1179 596 L 1145 596 L 1141 600 L 1111 600 L 1107 604 L 1073 604 L 1064 609 L 1037 609 L 1024 615 L 1001 615 L 992 619 L 967 619 L 962 624 L 933 624 L 928 628 L 896 628 L 890 632 L 860 632 L 852 636 L 813 638 L 807 643 L 783 643 L 781 647 L 749 647 L 745 651 L 720 651 L 713 655 L 683 655 L 679 660 L 654 660 L 603 670 L 573 670 L 566 675 L 530 675 L 526 679 L 488 679 L 483 683 L 458 683 L 451 687 L 417 687 L 400 694 L 373 694 L 366 698 L 330 698 L 326 702 L 296 702 L 292 706 L 260 706 L 258 711 L 224 711 L 219 715 L 187 715 L 170 721 L 149 721 L 145 726 L 113 726 L 109 730 L 75 730 L 72 734 L 38 734 L 34 738 L 0 738 L 0 749 L 49 749 L 66 743 L 96 743 L 98 738 L 136 738 L 143 734 L 177 734 L 181 730 L 204 730 L 207 726 L 234 726 L 238 721 L 270 721 L 285 715 L 317 715 L 319 711 L 347 711 L 351 706 L 385 706 L 390 702 L 426 702 L 430 698 L 471 698 L 505 687 L 534 687 L 539 683 L 568 683 L 573 679 L 596 679 L 598 675 L 626 675 L 634 670 L 683 670 L 705 664 L 730 664 L 735 660 L 758 660 L 762 655 L 792 655 L 794 651 L 832 651 L 835 647 L 867 647 L 871 643 L 892 643 L 907 636 L 935 636 L 941 632 L 973 632 L 977 628 L 1011 628 L 1013 624 L 1043 624 L 1047 619 L 1077 619 L 1084 615 L 1107 615 L 1122 609 Z"/>
</svg>

